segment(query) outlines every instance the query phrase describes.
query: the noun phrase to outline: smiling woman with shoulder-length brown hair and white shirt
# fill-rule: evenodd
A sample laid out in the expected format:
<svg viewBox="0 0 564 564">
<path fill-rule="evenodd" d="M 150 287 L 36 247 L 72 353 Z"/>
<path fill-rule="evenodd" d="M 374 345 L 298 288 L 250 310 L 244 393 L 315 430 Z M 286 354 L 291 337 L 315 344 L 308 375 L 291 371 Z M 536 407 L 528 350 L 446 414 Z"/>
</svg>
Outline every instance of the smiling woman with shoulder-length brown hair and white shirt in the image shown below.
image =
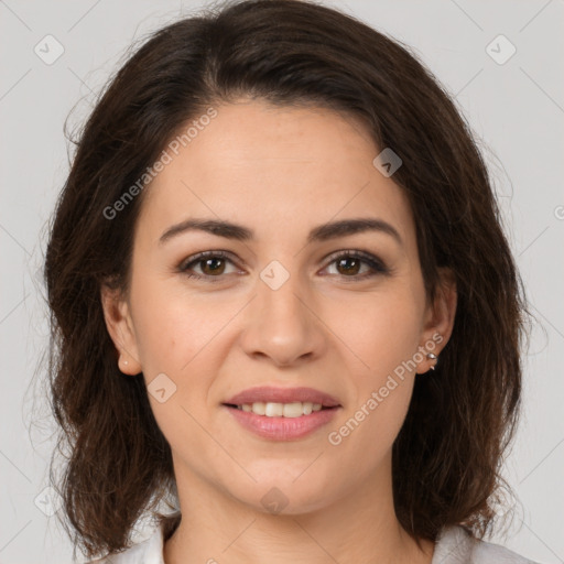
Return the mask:
<svg viewBox="0 0 564 564">
<path fill-rule="evenodd" d="M 468 127 L 398 43 L 293 0 L 160 30 L 86 123 L 46 279 L 87 557 L 531 562 L 484 540 L 521 282 Z"/>
</svg>

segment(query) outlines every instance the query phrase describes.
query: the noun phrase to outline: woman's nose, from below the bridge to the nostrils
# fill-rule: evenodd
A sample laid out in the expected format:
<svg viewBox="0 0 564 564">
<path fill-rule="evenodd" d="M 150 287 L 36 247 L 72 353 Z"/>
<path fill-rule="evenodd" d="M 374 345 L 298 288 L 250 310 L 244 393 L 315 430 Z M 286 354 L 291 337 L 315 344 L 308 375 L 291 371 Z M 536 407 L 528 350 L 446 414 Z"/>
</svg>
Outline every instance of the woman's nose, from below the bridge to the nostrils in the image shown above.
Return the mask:
<svg viewBox="0 0 564 564">
<path fill-rule="evenodd" d="M 275 286 L 273 286 L 275 288 Z M 247 308 L 241 346 L 247 355 L 276 367 L 296 366 L 323 355 L 324 325 L 314 299 L 297 275 L 278 289 L 259 278 L 257 295 Z"/>
</svg>

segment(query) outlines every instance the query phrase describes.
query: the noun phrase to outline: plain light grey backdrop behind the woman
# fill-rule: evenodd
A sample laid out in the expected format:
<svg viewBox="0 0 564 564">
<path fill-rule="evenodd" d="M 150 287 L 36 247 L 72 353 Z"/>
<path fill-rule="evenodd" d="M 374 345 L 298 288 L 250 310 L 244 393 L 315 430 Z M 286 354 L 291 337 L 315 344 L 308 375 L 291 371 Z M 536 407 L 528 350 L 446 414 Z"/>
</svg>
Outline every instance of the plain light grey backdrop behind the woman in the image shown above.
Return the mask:
<svg viewBox="0 0 564 564">
<path fill-rule="evenodd" d="M 505 463 L 519 502 L 511 527 L 490 540 L 539 562 L 562 563 L 564 2 L 326 4 L 410 45 L 456 97 L 479 140 L 536 318 L 523 359 L 523 416 Z M 63 134 L 65 119 L 73 110 L 69 126 L 80 124 L 132 41 L 202 6 L 0 0 L 1 564 L 72 556 L 52 514 L 57 500 L 45 489 L 54 426 L 36 383 L 44 379 L 39 362 L 47 343 L 37 271 L 73 149 Z M 61 56 L 50 61 L 57 50 Z"/>
</svg>

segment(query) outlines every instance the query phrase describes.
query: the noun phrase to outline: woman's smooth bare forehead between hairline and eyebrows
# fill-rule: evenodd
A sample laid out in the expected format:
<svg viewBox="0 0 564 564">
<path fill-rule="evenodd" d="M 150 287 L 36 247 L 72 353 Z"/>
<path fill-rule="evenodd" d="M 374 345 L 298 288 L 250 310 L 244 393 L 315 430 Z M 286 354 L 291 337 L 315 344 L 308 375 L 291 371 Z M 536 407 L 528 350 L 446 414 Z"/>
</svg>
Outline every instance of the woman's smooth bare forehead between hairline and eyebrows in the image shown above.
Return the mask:
<svg viewBox="0 0 564 564">
<path fill-rule="evenodd" d="M 373 166 L 379 150 L 359 119 L 257 100 L 215 109 L 177 154 L 169 151 L 140 221 L 162 231 L 204 216 L 290 238 L 332 218 L 370 216 L 413 237 L 405 195 Z"/>
</svg>

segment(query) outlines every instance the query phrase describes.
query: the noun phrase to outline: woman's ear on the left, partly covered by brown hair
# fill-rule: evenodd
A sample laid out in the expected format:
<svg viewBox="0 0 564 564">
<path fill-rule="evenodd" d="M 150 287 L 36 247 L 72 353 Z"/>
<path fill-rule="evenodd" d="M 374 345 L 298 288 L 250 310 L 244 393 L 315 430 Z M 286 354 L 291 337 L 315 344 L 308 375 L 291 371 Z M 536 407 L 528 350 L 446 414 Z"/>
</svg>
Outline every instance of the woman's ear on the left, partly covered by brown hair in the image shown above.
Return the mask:
<svg viewBox="0 0 564 564">
<path fill-rule="evenodd" d="M 106 284 L 101 285 L 100 301 L 106 327 L 119 354 L 119 369 L 135 376 L 142 368 L 129 303 L 119 290 Z"/>
</svg>

